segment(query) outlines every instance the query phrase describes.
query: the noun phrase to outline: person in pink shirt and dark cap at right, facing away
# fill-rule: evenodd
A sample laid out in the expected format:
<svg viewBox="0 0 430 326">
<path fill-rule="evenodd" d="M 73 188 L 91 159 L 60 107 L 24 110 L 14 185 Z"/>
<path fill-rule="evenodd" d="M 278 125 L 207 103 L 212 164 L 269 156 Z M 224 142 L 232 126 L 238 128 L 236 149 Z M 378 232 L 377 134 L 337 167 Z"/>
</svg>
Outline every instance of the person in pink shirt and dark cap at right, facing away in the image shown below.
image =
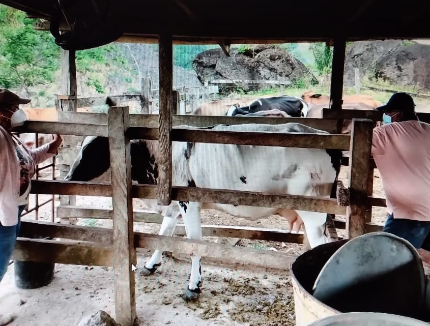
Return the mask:
<svg viewBox="0 0 430 326">
<path fill-rule="evenodd" d="M 378 110 L 384 124 L 373 131 L 371 154 L 387 202 L 383 231 L 424 248 L 430 231 L 430 125 L 418 120 L 406 93 L 393 94 Z"/>
</svg>

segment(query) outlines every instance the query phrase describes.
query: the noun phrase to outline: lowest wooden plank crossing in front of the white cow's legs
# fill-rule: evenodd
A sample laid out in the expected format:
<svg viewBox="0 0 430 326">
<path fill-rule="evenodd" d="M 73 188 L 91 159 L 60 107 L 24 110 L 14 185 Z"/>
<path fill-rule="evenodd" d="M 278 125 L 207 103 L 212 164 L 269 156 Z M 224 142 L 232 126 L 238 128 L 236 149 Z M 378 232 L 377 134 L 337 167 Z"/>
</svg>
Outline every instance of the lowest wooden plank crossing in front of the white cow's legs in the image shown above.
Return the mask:
<svg viewBox="0 0 430 326">
<path fill-rule="evenodd" d="M 243 247 L 229 247 L 222 244 L 172 238 L 148 233 L 135 233 L 138 248 L 151 248 L 174 253 L 197 255 L 217 259 L 220 263 L 235 262 L 239 265 L 265 266 L 267 268 L 289 269 L 297 256 L 271 250 L 257 250 Z"/>
</svg>

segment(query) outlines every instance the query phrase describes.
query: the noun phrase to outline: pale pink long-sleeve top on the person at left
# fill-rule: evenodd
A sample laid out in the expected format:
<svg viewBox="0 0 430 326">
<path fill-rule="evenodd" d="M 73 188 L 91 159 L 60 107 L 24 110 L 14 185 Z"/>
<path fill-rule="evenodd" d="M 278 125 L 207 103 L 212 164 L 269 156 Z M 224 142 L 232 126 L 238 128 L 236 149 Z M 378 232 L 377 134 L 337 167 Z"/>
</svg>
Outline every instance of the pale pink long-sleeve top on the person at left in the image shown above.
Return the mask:
<svg viewBox="0 0 430 326">
<path fill-rule="evenodd" d="M 48 153 L 49 144 L 31 150 L 22 140 L 16 139 L 30 154 L 35 165 L 55 156 L 55 154 Z M 20 165 L 15 152 L 15 144 L 12 136 L 0 126 L 0 223 L 3 226 L 18 223 L 19 187 Z"/>
</svg>

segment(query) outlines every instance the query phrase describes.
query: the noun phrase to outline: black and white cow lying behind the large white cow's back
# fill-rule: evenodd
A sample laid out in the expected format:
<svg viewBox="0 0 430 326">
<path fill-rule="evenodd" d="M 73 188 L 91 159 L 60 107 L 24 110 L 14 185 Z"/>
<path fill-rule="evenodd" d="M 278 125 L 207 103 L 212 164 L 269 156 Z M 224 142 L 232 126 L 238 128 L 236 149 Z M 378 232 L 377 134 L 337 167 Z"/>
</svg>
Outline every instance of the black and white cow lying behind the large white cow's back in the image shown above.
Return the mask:
<svg viewBox="0 0 430 326">
<path fill-rule="evenodd" d="M 305 117 L 307 115 L 307 103 L 301 98 L 287 95 L 260 98 L 242 107 L 232 105 L 226 115 L 247 115 L 274 109 L 283 111 L 292 117 Z"/>
</svg>

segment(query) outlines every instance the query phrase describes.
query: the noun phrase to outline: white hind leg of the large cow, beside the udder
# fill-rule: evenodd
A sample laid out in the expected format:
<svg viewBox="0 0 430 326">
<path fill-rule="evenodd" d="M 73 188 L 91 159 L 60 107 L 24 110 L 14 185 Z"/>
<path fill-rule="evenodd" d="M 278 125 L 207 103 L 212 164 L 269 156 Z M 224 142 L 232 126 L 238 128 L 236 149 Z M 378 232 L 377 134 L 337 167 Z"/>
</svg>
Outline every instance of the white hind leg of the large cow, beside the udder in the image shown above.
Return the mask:
<svg viewBox="0 0 430 326">
<path fill-rule="evenodd" d="M 326 229 L 326 213 L 296 211 L 303 220 L 305 233 L 310 248 L 315 248 L 319 245 L 329 243 L 330 240 L 325 234 Z"/>
</svg>

